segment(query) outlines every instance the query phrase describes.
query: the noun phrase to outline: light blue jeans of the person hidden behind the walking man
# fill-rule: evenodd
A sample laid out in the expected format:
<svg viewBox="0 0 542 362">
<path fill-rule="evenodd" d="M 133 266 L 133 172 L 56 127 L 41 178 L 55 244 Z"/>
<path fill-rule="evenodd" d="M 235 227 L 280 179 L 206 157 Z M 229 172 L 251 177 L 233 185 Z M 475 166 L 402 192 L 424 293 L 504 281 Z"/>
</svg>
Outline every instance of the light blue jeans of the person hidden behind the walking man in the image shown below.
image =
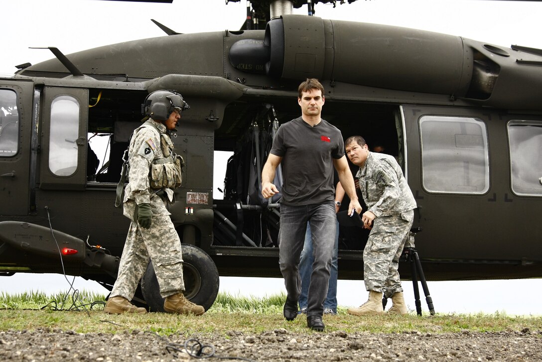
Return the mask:
<svg viewBox="0 0 542 362">
<path fill-rule="evenodd" d="M 337 276 L 338 276 L 338 251 L 339 251 L 339 221 L 335 221 L 335 245 L 333 246 L 333 258 L 331 259 L 330 281 L 327 287 L 327 296 L 324 301 L 324 309 L 331 309 L 337 313 Z M 307 224 L 305 245 L 299 259 L 299 274 L 301 276 L 301 295 L 299 296 L 299 308 L 307 307 L 308 285 L 311 281 L 311 269 L 314 257 L 312 255 L 311 226 Z"/>
</svg>

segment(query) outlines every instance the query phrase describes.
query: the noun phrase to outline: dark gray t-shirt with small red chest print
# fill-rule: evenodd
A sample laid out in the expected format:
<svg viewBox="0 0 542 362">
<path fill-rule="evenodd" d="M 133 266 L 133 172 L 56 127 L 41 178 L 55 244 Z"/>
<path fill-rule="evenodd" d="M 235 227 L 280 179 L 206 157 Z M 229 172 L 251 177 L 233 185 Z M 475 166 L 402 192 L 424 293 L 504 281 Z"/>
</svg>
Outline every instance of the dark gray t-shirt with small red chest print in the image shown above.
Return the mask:
<svg viewBox="0 0 542 362">
<path fill-rule="evenodd" d="M 279 127 L 270 153 L 282 157 L 282 204 L 333 201 L 333 158 L 344 156 L 343 135 L 326 120 L 314 127 L 301 117 Z"/>
</svg>

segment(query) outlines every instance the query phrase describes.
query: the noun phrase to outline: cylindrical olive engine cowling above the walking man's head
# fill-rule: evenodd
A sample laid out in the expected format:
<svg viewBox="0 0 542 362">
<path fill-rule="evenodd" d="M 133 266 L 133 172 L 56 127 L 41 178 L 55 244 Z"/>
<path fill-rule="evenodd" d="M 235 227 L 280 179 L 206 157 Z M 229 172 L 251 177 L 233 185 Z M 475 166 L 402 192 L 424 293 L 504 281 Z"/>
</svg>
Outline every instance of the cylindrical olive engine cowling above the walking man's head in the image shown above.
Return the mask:
<svg viewBox="0 0 542 362">
<path fill-rule="evenodd" d="M 423 30 L 288 15 L 268 23 L 264 44 L 273 77 L 458 96 L 472 77 L 461 37 Z"/>
</svg>

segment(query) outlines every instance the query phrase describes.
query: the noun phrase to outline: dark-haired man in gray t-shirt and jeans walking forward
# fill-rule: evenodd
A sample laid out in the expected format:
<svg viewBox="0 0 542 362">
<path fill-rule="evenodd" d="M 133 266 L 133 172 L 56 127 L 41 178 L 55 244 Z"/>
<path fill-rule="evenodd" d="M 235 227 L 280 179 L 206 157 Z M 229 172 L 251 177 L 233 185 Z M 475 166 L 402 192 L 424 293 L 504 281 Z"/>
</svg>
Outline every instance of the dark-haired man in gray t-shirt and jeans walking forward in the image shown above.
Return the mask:
<svg viewBox="0 0 542 362">
<path fill-rule="evenodd" d="M 279 263 L 288 294 L 283 314 L 288 321 L 298 314 L 299 256 L 308 222 L 314 263 L 308 289 L 307 326 L 323 331 L 323 305 L 335 238 L 333 167 L 350 197 L 349 212 L 360 213 L 362 207 L 346 161 L 343 136 L 320 117 L 325 102 L 324 87 L 317 79 L 307 79 L 299 85 L 298 91 L 301 117 L 281 125 L 273 139 L 273 148 L 262 171 L 262 195 L 270 198 L 279 193 L 272 181 L 276 168 L 282 163 Z"/>
</svg>

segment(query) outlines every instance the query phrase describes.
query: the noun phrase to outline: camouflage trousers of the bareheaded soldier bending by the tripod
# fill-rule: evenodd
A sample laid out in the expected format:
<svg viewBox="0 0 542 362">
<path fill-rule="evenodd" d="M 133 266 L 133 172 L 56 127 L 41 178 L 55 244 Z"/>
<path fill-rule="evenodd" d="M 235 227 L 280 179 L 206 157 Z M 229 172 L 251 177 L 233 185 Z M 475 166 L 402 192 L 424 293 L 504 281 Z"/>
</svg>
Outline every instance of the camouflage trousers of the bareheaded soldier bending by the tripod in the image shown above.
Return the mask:
<svg viewBox="0 0 542 362">
<path fill-rule="evenodd" d="M 363 250 L 365 288 L 391 297 L 403 291 L 399 278 L 399 257 L 409 236 L 414 211 L 375 219 Z"/>
</svg>

